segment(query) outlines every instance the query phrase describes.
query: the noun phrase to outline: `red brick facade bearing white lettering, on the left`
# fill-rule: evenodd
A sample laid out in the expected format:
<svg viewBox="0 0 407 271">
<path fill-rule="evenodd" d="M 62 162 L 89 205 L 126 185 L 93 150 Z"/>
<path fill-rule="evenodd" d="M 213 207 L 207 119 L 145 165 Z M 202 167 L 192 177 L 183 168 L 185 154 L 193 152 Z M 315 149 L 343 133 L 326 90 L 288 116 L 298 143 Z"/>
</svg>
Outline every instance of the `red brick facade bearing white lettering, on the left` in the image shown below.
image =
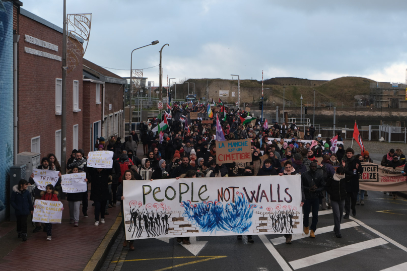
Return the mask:
<svg viewBox="0 0 407 271">
<path fill-rule="evenodd" d="M 62 62 L 24 51 L 24 47 L 62 56 L 62 33 L 19 15 L 19 148 L 31 150 L 31 138 L 41 137 L 41 157 L 55 153 L 55 131 L 61 128 L 61 116 L 55 115 L 55 79 L 62 78 Z M 50 42 L 58 51 L 25 42 L 24 35 Z M 76 69 L 66 77 L 66 154 L 73 149 L 73 125 L 79 124 L 78 147 L 82 148 L 82 115 L 73 112 L 73 81 L 79 81 L 79 108 L 84 109 L 82 99 L 82 58 Z"/>
</svg>

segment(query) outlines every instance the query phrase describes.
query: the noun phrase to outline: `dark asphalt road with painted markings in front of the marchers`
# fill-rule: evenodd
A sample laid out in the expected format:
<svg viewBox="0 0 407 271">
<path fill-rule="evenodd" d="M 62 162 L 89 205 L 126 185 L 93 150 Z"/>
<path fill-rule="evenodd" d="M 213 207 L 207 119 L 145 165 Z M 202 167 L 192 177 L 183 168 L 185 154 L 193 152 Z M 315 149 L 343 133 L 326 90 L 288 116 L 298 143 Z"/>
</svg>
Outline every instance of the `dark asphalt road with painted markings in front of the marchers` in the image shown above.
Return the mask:
<svg viewBox="0 0 407 271">
<path fill-rule="evenodd" d="M 315 239 L 297 234 L 291 245 L 282 235 L 253 236 L 253 244 L 196 237 L 189 246 L 163 238 L 137 240 L 128 251 L 120 234 L 101 270 L 407 270 L 407 201 L 368 193 L 356 217 L 342 221 L 342 239 L 333 234 L 329 210 L 320 211 Z"/>
</svg>

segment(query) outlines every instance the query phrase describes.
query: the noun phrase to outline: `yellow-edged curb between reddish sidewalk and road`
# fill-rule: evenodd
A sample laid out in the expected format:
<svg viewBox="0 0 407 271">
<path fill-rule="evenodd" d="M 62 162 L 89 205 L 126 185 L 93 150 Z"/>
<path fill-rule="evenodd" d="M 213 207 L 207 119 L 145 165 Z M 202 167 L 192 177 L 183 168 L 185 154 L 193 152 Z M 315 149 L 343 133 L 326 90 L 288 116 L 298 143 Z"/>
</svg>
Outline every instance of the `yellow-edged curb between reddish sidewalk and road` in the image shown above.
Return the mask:
<svg viewBox="0 0 407 271">
<path fill-rule="evenodd" d="M 114 238 L 117 236 L 119 232 L 118 230 L 120 229 L 120 224 L 121 224 L 121 212 L 117 215 L 116 221 L 114 222 L 110 230 L 107 232 L 102 242 L 100 242 L 100 245 L 96 249 L 95 253 L 93 253 L 92 257 L 88 261 L 88 264 L 86 264 L 85 268 L 83 269 L 84 271 L 99 270 L 104 258 L 106 257 L 107 251 L 112 246 Z"/>
</svg>

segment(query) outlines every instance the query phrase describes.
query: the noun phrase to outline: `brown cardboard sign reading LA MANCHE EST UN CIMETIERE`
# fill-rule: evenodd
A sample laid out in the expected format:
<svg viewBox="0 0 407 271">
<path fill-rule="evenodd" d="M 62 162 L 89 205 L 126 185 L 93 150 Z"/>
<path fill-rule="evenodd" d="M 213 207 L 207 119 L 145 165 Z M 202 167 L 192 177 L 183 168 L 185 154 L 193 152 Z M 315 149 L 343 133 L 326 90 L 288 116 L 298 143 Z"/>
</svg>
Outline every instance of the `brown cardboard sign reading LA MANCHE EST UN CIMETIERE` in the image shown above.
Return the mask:
<svg viewBox="0 0 407 271">
<path fill-rule="evenodd" d="M 251 162 L 250 139 L 217 141 L 216 162 L 218 164 Z"/>
</svg>

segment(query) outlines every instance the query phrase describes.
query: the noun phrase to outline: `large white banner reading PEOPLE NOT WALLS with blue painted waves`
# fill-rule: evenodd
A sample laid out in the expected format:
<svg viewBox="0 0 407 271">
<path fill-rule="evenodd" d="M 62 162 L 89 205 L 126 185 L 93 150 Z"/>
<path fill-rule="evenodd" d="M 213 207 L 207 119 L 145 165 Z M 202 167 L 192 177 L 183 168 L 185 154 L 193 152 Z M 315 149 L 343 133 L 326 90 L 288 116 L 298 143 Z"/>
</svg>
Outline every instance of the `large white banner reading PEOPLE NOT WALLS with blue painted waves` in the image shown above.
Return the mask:
<svg viewBox="0 0 407 271">
<path fill-rule="evenodd" d="M 300 175 L 123 180 L 126 240 L 299 234 Z"/>
</svg>

